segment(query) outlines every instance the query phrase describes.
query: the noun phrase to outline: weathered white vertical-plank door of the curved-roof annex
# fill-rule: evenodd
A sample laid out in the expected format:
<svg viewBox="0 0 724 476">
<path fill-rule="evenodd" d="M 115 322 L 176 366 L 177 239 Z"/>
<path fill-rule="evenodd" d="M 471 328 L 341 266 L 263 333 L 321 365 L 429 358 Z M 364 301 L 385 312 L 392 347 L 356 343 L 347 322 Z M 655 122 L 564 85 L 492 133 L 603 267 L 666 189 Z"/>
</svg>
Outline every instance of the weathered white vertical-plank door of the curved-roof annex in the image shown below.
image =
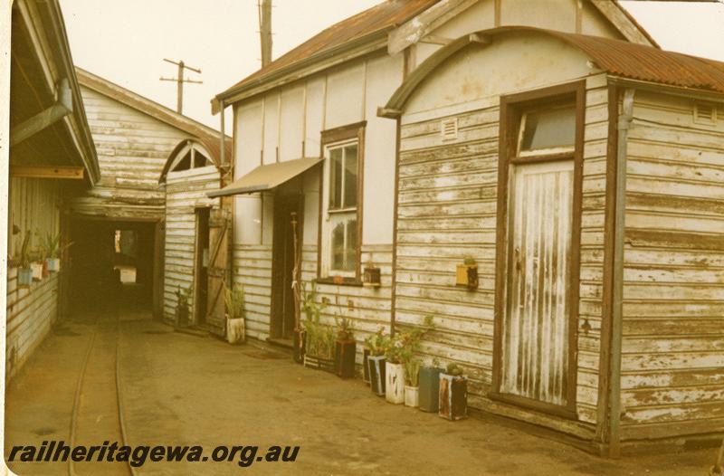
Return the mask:
<svg viewBox="0 0 724 476">
<path fill-rule="evenodd" d="M 567 405 L 574 161 L 511 172 L 500 391 Z"/>
</svg>

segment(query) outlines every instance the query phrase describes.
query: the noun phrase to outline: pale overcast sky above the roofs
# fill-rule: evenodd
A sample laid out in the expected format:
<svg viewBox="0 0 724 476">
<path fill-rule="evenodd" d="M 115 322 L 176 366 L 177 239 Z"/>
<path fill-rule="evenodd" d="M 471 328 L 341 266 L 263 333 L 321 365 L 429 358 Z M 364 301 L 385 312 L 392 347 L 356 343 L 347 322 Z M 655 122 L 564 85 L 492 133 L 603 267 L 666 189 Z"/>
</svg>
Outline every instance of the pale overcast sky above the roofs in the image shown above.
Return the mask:
<svg viewBox="0 0 724 476">
<path fill-rule="evenodd" d="M 60 1 L 76 65 L 176 109 L 176 83 L 158 79 L 176 75 L 164 58 L 183 60 L 202 71 L 187 77 L 204 81 L 185 85 L 184 113 L 215 129 L 210 100 L 261 66 L 257 0 Z M 275 0 L 274 58 L 379 1 Z M 622 5 L 664 49 L 724 61 L 724 4 Z"/>
</svg>

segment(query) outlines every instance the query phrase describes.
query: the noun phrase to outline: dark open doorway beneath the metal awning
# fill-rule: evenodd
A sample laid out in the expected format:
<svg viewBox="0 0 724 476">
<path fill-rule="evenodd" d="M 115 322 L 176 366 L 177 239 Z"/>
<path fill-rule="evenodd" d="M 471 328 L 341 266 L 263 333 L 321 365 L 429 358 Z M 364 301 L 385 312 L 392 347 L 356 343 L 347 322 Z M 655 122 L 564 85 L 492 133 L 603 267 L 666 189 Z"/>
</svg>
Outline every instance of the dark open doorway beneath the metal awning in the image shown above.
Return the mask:
<svg viewBox="0 0 724 476">
<path fill-rule="evenodd" d="M 291 339 L 294 331 L 294 229 L 301 250 L 302 195 L 274 197 L 271 249 L 271 338 Z M 296 222 L 296 225 L 294 224 Z"/>
</svg>

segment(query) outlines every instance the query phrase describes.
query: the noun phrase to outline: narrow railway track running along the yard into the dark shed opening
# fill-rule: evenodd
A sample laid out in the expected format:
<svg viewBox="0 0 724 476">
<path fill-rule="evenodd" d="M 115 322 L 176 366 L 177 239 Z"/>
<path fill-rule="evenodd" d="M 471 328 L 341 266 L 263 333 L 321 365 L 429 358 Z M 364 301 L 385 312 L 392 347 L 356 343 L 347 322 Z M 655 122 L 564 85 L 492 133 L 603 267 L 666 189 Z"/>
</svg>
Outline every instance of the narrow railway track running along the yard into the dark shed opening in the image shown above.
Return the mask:
<svg viewBox="0 0 724 476">
<path fill-rule="evenodd" d="M 70 443 L 100 445 L 104 442 L 127 443 L 123 419 L 123 394 L 119 368 L 120 318 L 100 315 L 93 324 L 88 348 L 81 363 L 81 372 L 73 398 Z M 94 460 L 91 460 L 94 461 Z M 131 475 L 136 471 L 130 462 L 83 462 L 68 459 L 69 476 L 97 474 L 98 469 L 81 468 L 82 465 L 103 465 L 106 476 Z M 80 470 L 80 471 L 79 471 Z"/>
</svg>

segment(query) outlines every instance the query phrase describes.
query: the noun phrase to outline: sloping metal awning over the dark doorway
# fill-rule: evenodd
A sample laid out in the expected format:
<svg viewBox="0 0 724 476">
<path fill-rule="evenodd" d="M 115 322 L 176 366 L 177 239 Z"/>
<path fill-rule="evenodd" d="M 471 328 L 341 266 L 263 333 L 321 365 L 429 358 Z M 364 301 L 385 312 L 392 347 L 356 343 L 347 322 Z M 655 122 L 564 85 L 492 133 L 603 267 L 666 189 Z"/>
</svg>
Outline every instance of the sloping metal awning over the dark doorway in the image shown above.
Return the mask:
<svg viewBox="0 0 724 476">
<path fill-rule="evenodd" d="M 245 176 L 234 180 L 228 186 L 224 186 L 221 190 L 214 190 L 206 195 L 214 198 L 216 196 L 253 194 L 271 190 L 290 181 L 295 176 L 300 176 L 321 161 L 322 159 L 319 157 L 305 157 L 256 167 Z"/>
</svg>

